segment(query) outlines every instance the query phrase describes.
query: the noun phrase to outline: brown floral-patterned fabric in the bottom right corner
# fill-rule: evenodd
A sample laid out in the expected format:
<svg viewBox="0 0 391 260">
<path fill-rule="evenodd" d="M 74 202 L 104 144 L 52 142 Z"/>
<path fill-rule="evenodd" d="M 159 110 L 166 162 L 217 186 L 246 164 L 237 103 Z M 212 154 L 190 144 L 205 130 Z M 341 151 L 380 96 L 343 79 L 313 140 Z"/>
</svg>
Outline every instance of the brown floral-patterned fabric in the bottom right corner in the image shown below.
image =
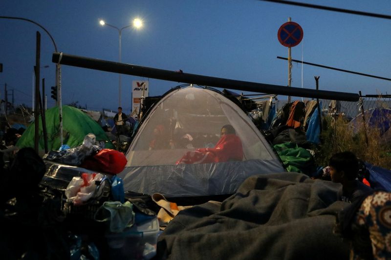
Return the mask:
<svg viewBox="0 0 391 260">
<path fill-rule="evenodd" d="M 368 229 L 374 259 L 391 259 L 391 193 L 368 196 L 357 213 L 355 224 Z M 362 259 L 353 248 L 353 259 Z"/>
</svg>

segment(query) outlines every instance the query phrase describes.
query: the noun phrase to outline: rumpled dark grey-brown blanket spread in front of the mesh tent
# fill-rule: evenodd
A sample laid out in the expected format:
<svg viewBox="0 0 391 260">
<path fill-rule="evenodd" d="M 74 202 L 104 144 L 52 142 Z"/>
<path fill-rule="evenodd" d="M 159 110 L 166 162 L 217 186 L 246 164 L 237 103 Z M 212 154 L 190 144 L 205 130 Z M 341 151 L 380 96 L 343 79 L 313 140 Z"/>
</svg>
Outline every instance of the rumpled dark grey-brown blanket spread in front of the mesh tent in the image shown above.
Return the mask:
<svg viewBox="0 0 391 260">
<path fill-rule="evenodd" d="M 348 259 L 333 234 L 338 184 L 298 173 L 253 176 L 222 204 L 181 211 L 160 235 L 158 258 Z"/>
</svg>

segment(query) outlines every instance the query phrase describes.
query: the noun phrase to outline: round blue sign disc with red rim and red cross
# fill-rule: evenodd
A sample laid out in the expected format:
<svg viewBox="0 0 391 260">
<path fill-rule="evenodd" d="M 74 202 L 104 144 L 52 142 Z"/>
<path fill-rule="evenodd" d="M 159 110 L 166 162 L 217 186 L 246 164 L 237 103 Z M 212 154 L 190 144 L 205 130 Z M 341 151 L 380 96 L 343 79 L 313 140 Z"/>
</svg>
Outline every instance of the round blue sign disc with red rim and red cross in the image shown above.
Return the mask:
<svg viewBox="0 0 391 260">
<path fill-rule="evenodd" d="M 303 29 L 298 23 L 288 21 L 278 29 L 277 37 L 285 47 L 294 47 L 303 40 Z"/>
</svg>

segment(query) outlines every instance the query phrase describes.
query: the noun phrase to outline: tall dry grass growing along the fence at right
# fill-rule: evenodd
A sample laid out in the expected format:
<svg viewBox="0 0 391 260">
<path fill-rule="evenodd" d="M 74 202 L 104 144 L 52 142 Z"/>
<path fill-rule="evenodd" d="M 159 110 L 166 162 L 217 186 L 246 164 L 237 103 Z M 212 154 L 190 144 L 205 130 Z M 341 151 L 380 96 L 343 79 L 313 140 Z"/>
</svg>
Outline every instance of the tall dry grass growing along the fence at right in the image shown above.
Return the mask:
<svg viewBox="0 0 391 260">
<path fill-rule="evenodd" d="M 391 140 L 387 140 L 380 133 L 381 129 L 365 127 L 363 122 L 354 129 L 342 116 L 325 117 L 322 144 L 316 156 L 317 164 L 327 165 L 328 159 L 334 153 L 351 151 L 361 160 L 391 169 Z"/>
</svg>

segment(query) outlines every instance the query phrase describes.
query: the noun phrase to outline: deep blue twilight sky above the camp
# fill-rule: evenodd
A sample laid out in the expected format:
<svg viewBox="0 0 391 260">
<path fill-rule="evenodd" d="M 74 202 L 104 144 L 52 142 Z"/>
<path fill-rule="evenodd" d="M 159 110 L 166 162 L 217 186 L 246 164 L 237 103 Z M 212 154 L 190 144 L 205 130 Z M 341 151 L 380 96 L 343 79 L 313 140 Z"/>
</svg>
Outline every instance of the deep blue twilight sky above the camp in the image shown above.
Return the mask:
<svg viewBox="0 0 391 260">
<path fill-rule="evenodd" d="M 299 0 L 296 0 L 299 1 Z M 301 2 L 371 13 L 391 14 L 390 0 L 300 0 Z M 391 78 L 391 20 L 296 7 L 259 0 L 4 0 L 0 16 L 34 20 L 53 36 L 66 54 L 118 61 L 119 28 L 138 17 L 143 28 L 122 31 L 122 62 L 186 73 L 287 85 L 287 48 L 277 40 L 279 27 L 292 18 L 304 39 L 292 48 L 292 59 Z M 31 106 L 36 31 L 41 32 L 41 77 L 48 107 L 55 82 L 51 62 L 54 47 L 38 26 L 22 20 L 0 19 L 0 93 L 4 83 L 14 89 L 15 102 Z M 303 73 L 303 81 L 302 81 Z M 363 94 L 391 94 L 391 81 L 373 79 L 293 63 L 292 86 Z M 124 110 L 131 109 L 132 80 L 122 75 Z M 180 84 L 149 79 L 150 96 Z M 79 101 L 88 109 L 116 109 L 118 74 L 62 66 L 63 104 Z"/>
</svg>

